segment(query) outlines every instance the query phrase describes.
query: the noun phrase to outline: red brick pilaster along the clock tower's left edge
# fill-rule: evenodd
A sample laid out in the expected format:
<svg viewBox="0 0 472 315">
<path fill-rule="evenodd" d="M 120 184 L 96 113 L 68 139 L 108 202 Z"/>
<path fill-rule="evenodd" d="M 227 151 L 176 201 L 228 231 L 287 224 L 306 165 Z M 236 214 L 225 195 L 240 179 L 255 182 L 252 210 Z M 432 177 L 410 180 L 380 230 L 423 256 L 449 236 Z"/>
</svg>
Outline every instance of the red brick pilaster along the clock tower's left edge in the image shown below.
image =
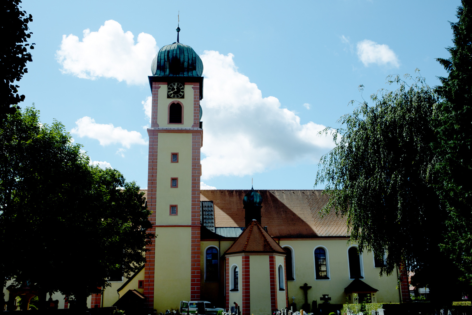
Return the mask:
<svg viewBox="0 0 472 315">
<path fill-rule="evenodd" d="M 155 83 L 154 83 L 155 84 Z M 154 87 L 154 86 L 153 86 Z M 154 100 L 154 91 L 157 93 L 157 89 L 153 89 L 152 98 Z M 157 96 L 156 104 L 152 102 L 152 111 L 156 107 L 156 119 L 157 119 Z M 156 120 L 157 124 L 157 120 Z M 147 206 L 152 212 L 149 216 L 149 221 L 152 225 L 156 224 L 156 179 L 157 179 L 157 143 L 158 133 L 157 130 L 148 129 L 149 135 L 149 158 L 148 158 L 148 192 L 147 192 Z M 156 233 L 156 228 L 149 229 L 150 233 Z M 144 296 L 146 299 L 146 305 L 148 308 L 154 308 L 154 258 L 155 258 L 155 240 L 152 240 L 152 244 L 146 247 L 146 263 L 144 264 Z"/>
</svg>

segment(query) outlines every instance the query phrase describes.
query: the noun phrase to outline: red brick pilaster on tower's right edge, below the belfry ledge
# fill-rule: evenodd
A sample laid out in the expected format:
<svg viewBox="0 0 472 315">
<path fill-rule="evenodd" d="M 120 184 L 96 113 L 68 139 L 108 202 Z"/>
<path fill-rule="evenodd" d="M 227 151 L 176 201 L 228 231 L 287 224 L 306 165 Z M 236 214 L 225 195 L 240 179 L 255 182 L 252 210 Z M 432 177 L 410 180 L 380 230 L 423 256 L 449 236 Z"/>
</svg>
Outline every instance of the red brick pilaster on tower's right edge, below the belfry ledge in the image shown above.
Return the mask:
<svg viewBox="0 0 472 315">
<path fill-rule="evenodd" d="M 200 148 L 202 135 L 192 134 L 192 244 L 190 299 L 200 299 Z"/>
</svg>

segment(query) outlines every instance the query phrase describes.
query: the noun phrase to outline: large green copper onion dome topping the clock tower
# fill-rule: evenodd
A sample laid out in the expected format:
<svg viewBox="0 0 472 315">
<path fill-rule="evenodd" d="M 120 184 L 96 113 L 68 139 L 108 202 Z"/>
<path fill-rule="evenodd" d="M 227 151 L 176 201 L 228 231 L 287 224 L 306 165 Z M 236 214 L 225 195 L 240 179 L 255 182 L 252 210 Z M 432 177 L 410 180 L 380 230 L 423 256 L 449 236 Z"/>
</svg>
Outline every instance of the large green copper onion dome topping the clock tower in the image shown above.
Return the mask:
<svg viewBox="0 0 472 315">
<path fill-rule="evenodd" d="M 160 49 L 151 63 L 151 73 L 158 77 L 202 77 L 203 62 L 192 47 L 177 42 Z"/>
</svg>

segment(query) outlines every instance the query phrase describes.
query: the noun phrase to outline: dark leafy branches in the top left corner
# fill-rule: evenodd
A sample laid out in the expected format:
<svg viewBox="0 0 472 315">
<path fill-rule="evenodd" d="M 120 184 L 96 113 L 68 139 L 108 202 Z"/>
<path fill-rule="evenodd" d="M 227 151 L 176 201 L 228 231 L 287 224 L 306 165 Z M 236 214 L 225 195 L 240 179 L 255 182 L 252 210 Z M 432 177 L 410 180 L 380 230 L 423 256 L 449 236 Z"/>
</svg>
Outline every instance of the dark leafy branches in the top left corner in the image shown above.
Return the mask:
<svg viewBox="0 0 472 315">
<path fill-rule="evenodd" d="M 25 100 L 25 95 L 18 95 L 19 81 L 28 72 L 26 61 L 33 61 L 31 53 L 27 51 L 30 44 L 26 43 L 31 38 L 28 33 L 28 23 L 33 17 L 21 11 L 21 0 L 2 1 L 3 11 L 0 18 L 1 33 L 3 35 L 0 46 L 1 81 L 0 81 L 0 119 L 6 118 L 6 114 L 13 113 L 19 108 L 19 102 Z M 34 49 L 34 43 L 30 49 Z M 13 105 L 13 106 L 11 106 Z M 11 106 L 11 107 L 10 107 Z"/>
</svg>

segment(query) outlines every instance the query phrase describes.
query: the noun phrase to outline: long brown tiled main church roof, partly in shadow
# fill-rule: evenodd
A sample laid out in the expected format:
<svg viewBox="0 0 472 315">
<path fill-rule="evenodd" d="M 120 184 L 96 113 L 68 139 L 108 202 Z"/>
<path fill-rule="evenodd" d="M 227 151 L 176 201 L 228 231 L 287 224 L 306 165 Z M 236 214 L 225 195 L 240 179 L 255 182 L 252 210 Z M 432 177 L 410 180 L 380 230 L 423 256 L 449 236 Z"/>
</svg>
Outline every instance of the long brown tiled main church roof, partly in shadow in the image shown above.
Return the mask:
<svg viewBox="0 0 472 315">
<path fill-rule="evenodd" d="M 243 198 L 249 190 L 201 190 L 200 200 L 213 201 L 215 227 L 244 227 Z M 257 190 L 263 202 L 261 225 L 272 237 L 346 237 L 346 218 L 334 211 L 321 217 L 328 202 L 322 190 Z"/>
</svg>

